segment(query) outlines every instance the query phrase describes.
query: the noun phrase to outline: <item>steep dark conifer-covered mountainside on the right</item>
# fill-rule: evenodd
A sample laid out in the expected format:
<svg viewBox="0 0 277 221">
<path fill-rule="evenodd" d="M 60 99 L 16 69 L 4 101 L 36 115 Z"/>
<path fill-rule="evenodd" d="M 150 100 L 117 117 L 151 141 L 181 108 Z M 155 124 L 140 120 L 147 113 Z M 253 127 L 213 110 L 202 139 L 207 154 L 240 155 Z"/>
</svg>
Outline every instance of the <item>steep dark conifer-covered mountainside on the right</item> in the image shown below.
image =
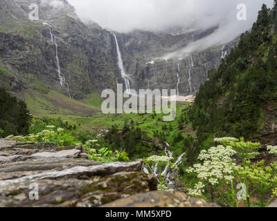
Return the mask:
<svg viewBox="0 0 277 221">
<path fill-rule="evenodd" d="M 277 4 L 262 6 L 251 32 L 202 86 L 191 111 L 200 141 L 222 135 L 277 137 Z"/>
</svg>

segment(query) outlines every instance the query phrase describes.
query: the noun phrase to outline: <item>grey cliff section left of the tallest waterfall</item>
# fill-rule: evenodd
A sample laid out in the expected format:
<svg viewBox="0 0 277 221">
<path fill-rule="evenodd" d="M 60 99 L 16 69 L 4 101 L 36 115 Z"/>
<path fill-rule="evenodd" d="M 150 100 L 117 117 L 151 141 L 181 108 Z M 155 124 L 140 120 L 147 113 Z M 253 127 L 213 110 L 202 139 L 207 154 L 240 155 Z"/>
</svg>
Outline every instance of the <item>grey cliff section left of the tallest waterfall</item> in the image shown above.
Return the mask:
<svg viewBox="0 0 277 221">
<path fill-rule="evenodd" d="M 30 3 L 36 1 L 1 0 L 1 66 L 13 81 L 23 89 L 42 82 L 75 99 L 115 88 L 120 75 L 110 32 L 85 26 L 66 1 L 59 9 L 41 3 L 40 20 L 30 21 Z"/>
</svg>

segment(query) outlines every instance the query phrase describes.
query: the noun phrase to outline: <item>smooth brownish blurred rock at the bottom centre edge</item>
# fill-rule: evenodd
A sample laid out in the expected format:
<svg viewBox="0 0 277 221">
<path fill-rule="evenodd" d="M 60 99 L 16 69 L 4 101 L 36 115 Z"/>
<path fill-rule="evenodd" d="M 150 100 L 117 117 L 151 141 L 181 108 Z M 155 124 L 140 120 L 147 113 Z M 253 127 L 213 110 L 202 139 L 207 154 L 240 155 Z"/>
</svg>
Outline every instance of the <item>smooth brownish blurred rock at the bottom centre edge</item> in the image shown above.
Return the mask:
<svg viewBox="0 0 277 221">
<path fill-rule="evenodd" d="M 153 191 L 116 200 L 102 207 L 219 207 L 204 200 L 189 198 L 184 193 Z"/>
</svg>

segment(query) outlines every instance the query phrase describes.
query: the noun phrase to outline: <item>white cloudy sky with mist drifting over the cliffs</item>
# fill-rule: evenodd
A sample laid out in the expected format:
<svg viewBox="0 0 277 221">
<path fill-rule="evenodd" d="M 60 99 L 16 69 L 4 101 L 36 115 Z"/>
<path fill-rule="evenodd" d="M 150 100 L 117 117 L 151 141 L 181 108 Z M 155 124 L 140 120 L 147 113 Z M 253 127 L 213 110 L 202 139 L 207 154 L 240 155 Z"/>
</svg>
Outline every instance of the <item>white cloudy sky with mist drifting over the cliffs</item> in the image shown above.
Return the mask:
<svg viewBox="0 0 277 221">
<path fill-rule="evenodd" d="M 55 0 L 58 1 L 58 0 Z M 219 27 L 208 37 L 188 44 L 170 57 L 184 57 L 196 50 L 226 44 L 249 30 L 262 3 L 272 7 L 274 0 L 67 0 L 82 21 L 95 21 L 116 32 L 145 30 L 166 32 L 169 28 L 206 30 Z M 246 20 L 238 21 L 239 4 L 246 6 Z"/>
</svg>

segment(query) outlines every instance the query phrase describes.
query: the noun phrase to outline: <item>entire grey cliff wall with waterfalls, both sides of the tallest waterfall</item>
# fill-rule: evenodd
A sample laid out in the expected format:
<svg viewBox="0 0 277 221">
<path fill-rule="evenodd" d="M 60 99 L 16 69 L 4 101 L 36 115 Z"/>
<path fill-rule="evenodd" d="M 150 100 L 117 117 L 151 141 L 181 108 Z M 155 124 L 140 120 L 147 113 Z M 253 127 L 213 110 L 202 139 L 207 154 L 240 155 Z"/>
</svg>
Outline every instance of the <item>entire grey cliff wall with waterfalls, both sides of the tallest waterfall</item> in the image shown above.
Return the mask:
<svg viewBox="0 0 277 221">
<path fill-rule="evenodd" d="M 31 3 L 39 4 L 39 21 L 28 19 Z M 45 93 L 56 90 L 82 99 L 124 82 L 112 33 L 95 23 L 85 25 L 67 1 L 54 8 L 51 0 L 0 0 L 0 12 L 0 66 L 10 73 L 0 76 L 0 86 L 21 94 L 27 88 Z M 214 30 L 179 35 L 140 31 L 116 34 L 131 87 L 179 88 L 180 95 L 195 94 L 206 81 L 208 70 L 220 65 L 222 46 L 184 59 L 149 62 Z"/>
</svg>

